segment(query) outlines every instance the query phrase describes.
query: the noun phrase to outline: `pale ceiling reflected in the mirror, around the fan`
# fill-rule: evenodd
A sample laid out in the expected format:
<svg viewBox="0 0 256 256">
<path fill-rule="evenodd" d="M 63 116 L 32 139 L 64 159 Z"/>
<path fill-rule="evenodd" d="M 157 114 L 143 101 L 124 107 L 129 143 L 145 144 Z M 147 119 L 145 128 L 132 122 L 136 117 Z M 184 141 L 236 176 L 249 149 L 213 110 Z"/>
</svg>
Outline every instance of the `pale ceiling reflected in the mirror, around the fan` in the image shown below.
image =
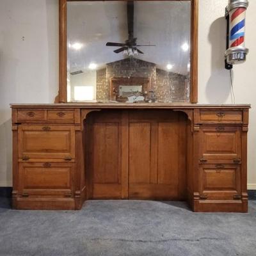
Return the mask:
<svg viewBox="0 0 256 256">
<path fill-rule="evenodd" d="M 136 58 L 156 63 L 163 70 L 188 74 L 190 8 L 190 1 L 134 1 L 137 44 L 156 45 L 139 47 L 144 54 Z M 106 42 L 127 40 L 127 2 L 68 2 L 67 33 L 68 72 L 104 68 L 106 63 L 127 58 L 122 52 L 113 52 L 118 47 L 106 46 Z"/>
</svg>

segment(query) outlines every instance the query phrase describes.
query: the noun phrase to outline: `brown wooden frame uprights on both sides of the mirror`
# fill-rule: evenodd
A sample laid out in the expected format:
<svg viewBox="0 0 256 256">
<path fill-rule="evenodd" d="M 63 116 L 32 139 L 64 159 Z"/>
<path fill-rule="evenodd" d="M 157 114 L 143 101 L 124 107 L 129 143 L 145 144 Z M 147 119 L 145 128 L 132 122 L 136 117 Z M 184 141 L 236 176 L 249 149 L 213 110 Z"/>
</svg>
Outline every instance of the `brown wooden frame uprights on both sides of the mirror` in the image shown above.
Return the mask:
<svg viewBox="0 0 256 256">
<path fill-rule="evenodd" d="M 67 102 L 67 2 L 92 0 L 59 0 L 59 93 L 56 103 Z M 108 0 L 105 0 L 108 1 Z M 118 1 L 118 0 L 116 0 Z M 143 0 L 140 0 L 143 1 Z M 158 0 L 164 1 L 164 0 Z M 174 0 L 188 1 L 188 0 Z M 191 38 L 190 38 L 190 102 L 198 99 L 198 0 L 191 0 Z"/>
</svg>

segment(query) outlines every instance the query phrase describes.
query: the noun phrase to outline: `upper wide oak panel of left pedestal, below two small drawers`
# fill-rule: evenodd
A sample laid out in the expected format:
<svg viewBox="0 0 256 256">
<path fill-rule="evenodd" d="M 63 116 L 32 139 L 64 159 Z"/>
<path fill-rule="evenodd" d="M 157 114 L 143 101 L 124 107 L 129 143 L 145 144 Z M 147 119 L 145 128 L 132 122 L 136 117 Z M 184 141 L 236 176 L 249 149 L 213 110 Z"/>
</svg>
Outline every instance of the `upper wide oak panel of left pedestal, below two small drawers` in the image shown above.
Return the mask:
<svg viewBox="0 0 256 256">
<path fill-rule="evenodd" d="M 29 161 L 65 161 L 65 157 L 74 160 L 74 141 L 72 126 L 20 125 L 19 159 L 25 156 Z"/>
</svg>

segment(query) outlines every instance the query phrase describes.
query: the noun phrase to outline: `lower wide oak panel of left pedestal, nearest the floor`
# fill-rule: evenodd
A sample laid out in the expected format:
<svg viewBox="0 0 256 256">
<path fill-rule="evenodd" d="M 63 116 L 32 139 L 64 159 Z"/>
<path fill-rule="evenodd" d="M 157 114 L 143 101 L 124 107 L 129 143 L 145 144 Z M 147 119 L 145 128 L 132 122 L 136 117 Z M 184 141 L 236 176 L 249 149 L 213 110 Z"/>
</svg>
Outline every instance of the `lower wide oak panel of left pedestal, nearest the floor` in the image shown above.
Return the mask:
<svg viewBox="0 0 256 256">
<path fill-rule="evenodd" d="M 20 163 L 19 170 L 23 195 L 72 195 L 74 164 Z"/>
</svg>

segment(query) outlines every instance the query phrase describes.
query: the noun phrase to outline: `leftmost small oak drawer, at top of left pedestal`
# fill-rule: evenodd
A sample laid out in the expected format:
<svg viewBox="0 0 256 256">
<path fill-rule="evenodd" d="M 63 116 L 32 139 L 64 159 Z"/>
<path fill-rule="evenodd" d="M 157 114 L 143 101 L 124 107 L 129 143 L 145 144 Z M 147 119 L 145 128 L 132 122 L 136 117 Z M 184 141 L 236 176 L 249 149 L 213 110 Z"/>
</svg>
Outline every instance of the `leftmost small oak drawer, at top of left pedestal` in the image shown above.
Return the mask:
<svg viewBox="0 0 256 256">
<path fill-rule="evenodd" d="M 17 111 L 17 121 L 46 121 L 46 111 L 37 109 L 18 109 Z"/>
</svg>

